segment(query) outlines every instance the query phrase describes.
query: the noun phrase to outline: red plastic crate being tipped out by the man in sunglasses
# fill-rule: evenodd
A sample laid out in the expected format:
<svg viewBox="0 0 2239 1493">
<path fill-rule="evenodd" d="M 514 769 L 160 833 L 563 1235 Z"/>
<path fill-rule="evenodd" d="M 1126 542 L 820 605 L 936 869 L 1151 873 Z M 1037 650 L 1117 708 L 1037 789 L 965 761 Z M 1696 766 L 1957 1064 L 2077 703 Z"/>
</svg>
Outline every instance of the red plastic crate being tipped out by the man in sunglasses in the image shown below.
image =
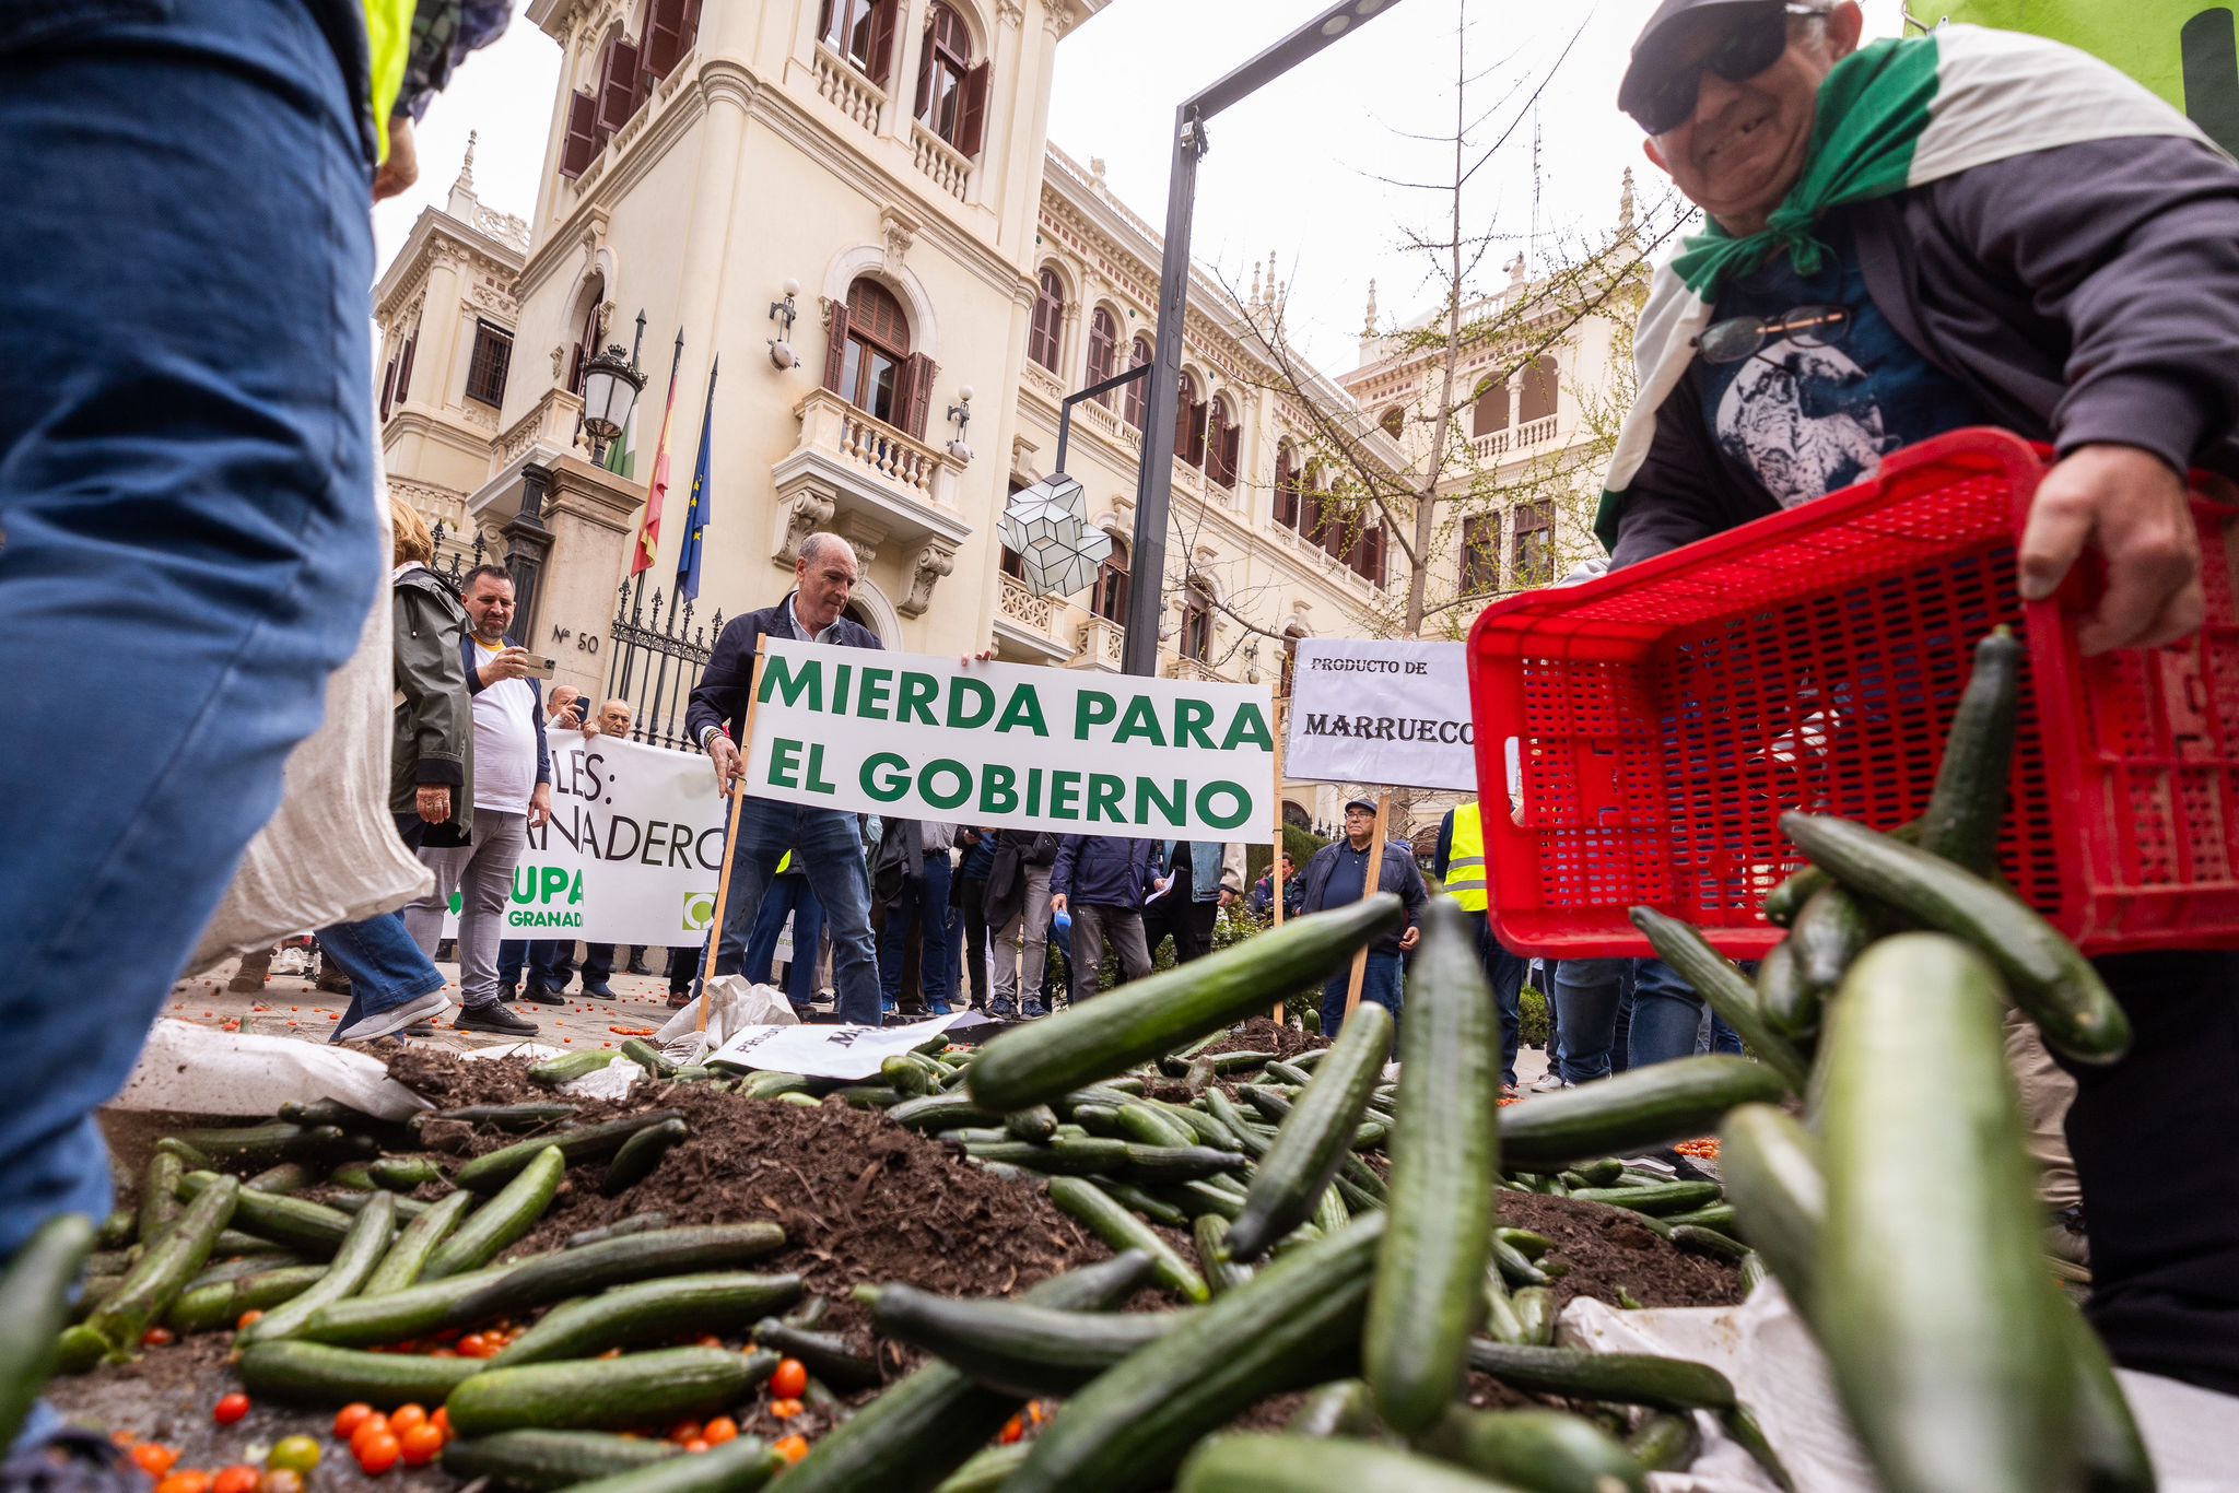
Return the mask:
<svg viewBox="0 0 2239 1493">
<path fill-rule="evenodd" d="M 1780 940 L 1789 808 L 1894 828 L 1928 806 L 1975 642 L 2029 642 L 2006 880 L 2091 954 L 2239 947 L 2239 510 L 2194 499 L 2208 627 L 2082 658 L 2024 607 L 2015 542 L 2044 461 L 1997 430 L 1617 575 L 1498 602 L 1469 638 L 1491 918 L 1511 949 L 1648 954 L 1626 913 L 1733 958 Z M 2085 566 L 2078 566 L 2082 571 Z"/>
</svg>

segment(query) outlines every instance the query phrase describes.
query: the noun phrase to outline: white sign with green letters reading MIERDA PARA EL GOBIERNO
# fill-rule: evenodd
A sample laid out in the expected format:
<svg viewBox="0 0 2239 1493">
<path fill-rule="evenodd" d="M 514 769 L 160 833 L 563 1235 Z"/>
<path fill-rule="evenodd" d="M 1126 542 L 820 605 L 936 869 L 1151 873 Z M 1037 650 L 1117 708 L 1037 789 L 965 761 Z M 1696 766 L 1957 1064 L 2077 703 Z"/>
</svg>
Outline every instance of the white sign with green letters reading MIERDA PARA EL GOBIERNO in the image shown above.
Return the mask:
<svg viewBox="0 0 2239 1493">
<path fill-rule="evenodd" d="M 755 797 L 1064 835 L 1263 839 L 1261 685 L 1086 674 L 772 638 Z"/>
</svg>

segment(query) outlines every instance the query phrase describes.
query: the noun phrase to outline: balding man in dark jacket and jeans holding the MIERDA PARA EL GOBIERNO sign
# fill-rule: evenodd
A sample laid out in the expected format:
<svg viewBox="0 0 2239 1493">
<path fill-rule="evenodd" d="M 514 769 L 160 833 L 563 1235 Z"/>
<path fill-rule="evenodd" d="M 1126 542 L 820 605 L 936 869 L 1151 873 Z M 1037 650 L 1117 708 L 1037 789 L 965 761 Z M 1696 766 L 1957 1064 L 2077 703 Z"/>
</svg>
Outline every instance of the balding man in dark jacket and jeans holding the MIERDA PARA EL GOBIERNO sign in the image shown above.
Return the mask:
<svg viewBox="0 0 2239 1493">
<path fill-rule="evenodd" d="M 875 649 L 871 629 L 849 622 L 846 600 L 855 589 L 855 548 L 840 535 L 813 533 L 793 562 L 795 589 L 786 600 L 732 618 L 714 642 L 708 672 L 692 692 L 685 732 L 708 752 L 716 781 L 743 777 L 739 741 L 746 736 L 746 694 L 755 680 L 755 645 L 763 633 Z M 772 799 L 741 799 L 739 851 L 730 866 L 730 900 L 723 911 L 716 974 L 746 969 L 746 938 L 761 909 L 761 893 L 786 851 L 799 853 L 833 938 L 833 985 L 840 989 L 842 1021 L 875 1027 L 878 956 L 871 942 L 871 880 L 862 864 L 862 828 L 855 815 Z"/>
</svg>

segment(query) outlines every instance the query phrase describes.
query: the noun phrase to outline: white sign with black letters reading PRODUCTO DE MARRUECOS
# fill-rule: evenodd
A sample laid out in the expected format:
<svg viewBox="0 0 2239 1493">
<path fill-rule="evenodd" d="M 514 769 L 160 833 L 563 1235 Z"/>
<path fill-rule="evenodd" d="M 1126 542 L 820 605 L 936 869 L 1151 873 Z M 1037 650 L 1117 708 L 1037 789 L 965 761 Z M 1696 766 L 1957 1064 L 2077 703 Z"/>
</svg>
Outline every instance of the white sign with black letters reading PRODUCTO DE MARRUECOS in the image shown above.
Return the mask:
<svg viewBox="0 0 2239 1493">
<path fill-rule="evenodd" d="M 1283 777 L 1476 792 L 1464 647 L 1301 638 Z"/>
</svg>

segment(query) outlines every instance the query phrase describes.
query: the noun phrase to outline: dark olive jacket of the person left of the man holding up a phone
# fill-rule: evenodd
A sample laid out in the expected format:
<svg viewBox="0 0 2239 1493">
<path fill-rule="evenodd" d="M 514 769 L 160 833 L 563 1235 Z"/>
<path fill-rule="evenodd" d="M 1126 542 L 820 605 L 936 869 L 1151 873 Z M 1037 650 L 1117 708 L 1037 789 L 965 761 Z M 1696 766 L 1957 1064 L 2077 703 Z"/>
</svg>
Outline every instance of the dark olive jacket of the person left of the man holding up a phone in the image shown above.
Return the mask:
<svg viewBox="0 0 2239 1493">
<path fill-rule="evenodd" d="M 390 600 L 390 654 L 396 663 L 390 810 L 407 815 L 419 806 L 421 783 L 443 783 L 450 788 L 450 828 L 463 844 L 475 824 L 475 705 L 466 665 L 459 663 L 466 609 L 428 566 L 399 575 Z"/>
</svg>

